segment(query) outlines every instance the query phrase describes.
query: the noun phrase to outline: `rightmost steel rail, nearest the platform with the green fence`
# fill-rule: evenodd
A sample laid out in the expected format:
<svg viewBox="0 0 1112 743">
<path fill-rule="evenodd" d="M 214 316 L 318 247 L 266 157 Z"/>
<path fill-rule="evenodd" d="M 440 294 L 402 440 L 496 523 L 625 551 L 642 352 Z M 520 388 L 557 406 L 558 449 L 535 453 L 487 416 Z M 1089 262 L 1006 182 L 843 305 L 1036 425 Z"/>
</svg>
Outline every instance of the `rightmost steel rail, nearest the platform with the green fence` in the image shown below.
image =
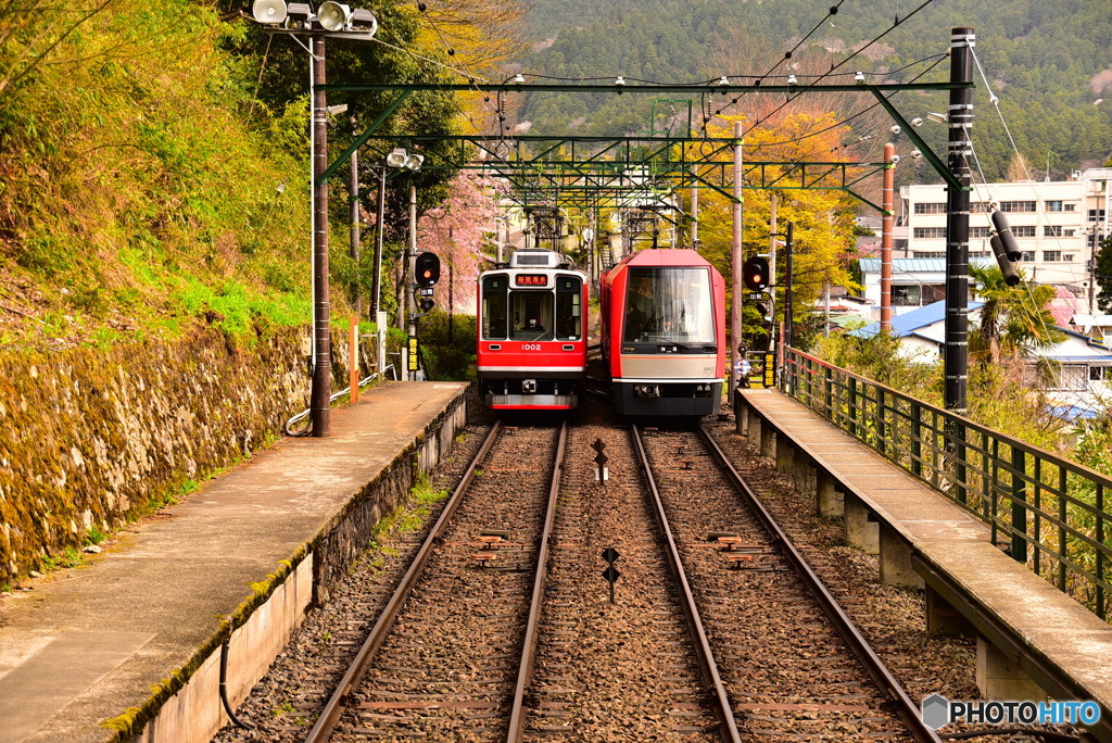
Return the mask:
<svg viewBox="0 0 1112 743">
<path fill-rule="evenodd" d="M 838 634 L 845 640 L 850 650 L 853 651 L 854 655 L 861 661 L 865 671 L 872 677 L 873 682 L 877 685 L 883 694 L 886 694 L 896 704 L 896 711 L 903 719 L 904 724 L 907 725 L 909 732 L 912 734 L 916 741 L 921 743 L 941 743 L 937 733 L 933 729 L 929 727 L 919 714 L 919 705 L 912 702 L 911 697 L 904 691 L 903 686 L 896 681 L 896 677 L 892 675 L 887 666 L 884 665 L 884 661 L 873 652 L 873 648 L 868 645 L 868 641 L 865 640 L 864 635 L 857 630 L 853 624 L 853 620 L 850 615 L 838 605 L 837 600 L 834 598 L 833 594 L 823 585 L 823 582 L 818 578 L 818 575 L 811 568 L 807 561 L 803 557 L 803 554 L 795 547 L 791 537 L 787 533 L 781 528 L 776 519 L 773 518 L 768 509 L 765 508 L 764 504 L 748 486 L 745 479 L 742 478 L 734 464 L 726 456 L 718 443 L 714 440 L 711 434 L 706 430 L 705 426 L 699 426 L 699 436 L 702 436 L 703 442 L 706 444 L 707 448 L 715 455 L 718 459 L 718 464 L 725 470 L 726 475 L 733 482 L 734 487 L 737 488 L 739 495 L 742 495 L 747 504 L 753 508 L 756 514 L 757 519 L 761 522 L 762 526 L 768 532 L 770 536 L 774 541 L 780 542 L 781 547 L 784 551 L 784 556 L 787 557 L 792 567 L 803 579 L 803 583 L 814 595 L 815 600 L 822 606 L 823 612 L 830 617 L 831 622 L 834 624 L 834 628 L 837 630 Z"/>
</svg>

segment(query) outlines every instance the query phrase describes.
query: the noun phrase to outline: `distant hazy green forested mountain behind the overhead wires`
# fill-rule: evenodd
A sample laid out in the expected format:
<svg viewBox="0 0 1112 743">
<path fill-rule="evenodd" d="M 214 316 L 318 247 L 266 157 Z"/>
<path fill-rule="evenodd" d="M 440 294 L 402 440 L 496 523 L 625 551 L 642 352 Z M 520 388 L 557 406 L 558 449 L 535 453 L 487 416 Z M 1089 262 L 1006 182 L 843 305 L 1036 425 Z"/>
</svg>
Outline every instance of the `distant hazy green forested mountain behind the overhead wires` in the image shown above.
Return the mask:
<svg viewBox="0 0 1112 743">
<path fill-rule="evenodd" d="M 530 32 L 538 43 L 524 60 L 526 72 L 603 79 L 623 75 L 675 82 L 764 73 L 784 62 L 784 52 L 826 12 L 825 4 L 806 0 L 657 0 L 605 6 L 532 0 L 532 7 Z M 840 3 L 833 22 L 822 23 L 776 72 L 826 71 L 916 7 L 901 1 Z M 1000 98 L 1004 119 L 1020 151 L 1040 175 L 1048 158 L 1052 178 L 1103 165 L 1112 150 L 1112 12 L 1106 0 L 936 0 L 838 71 L 864 70 L 884 73 L 874 80 L 909 81 L 925 65 L 901 68 L 944 53 L 950 29 L 956 26 L 974 28 L 977 59 Z M 922 79 L 945 80 L 947 75 L 943 60 Z M 1002 179 L 1013 159 L 1012 148 L 980 73 L 976 82 L 975 146 L 985 175 Z M 945 110 L 944 95 L 903 95 L 896 101 L 907 118 Z M 860 96 L 842 112 L 848 118 L 873 102 Z M 647 96 L 613 95 L 535 95 L 516 103 L 517 115 L 532 123 L 533 133 L 566 132 L 569 127 L 577 133 L 635 132 L 648 127 L 651 107 Z M 714 103 L 696 98 L 695 108 Z M 738 112 L 745 111 L 743 103 Z M 854 120 L 852 139 L 877 133 L 882 125 L 886 129 L 890 122 L 875 117 Z M 921 132 L 936 149 L 944 147 L 943 127 L 924 127 Z"/>
</svg>

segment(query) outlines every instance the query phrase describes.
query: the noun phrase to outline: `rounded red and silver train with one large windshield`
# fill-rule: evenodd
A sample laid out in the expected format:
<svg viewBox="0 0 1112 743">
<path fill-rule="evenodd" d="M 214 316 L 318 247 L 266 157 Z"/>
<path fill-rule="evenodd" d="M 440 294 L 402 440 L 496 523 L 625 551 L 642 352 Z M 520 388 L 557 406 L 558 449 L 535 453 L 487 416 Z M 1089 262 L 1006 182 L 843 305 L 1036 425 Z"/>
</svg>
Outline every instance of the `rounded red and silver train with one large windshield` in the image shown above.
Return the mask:
<svg viewBox="0 0 1112 743">
<path fill-rule="evenodd" d="M 622 415 L 718 412 L 725 281 L 694 250 L 639 250 L 602 277 L 603 356 Z"/>
</svg>

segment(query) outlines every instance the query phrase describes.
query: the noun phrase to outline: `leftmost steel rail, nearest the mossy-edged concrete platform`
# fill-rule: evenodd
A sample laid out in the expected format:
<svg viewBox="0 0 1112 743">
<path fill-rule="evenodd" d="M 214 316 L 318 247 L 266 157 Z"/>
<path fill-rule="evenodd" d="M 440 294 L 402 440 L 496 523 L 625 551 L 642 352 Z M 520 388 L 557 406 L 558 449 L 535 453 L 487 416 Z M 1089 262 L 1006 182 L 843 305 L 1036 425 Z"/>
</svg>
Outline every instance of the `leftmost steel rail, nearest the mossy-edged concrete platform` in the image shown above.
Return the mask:
<svg viewBox="0 0 1112 743">
<path fill-rule="evenodd" d="M 390 627 L 394 626 L 395 620 L 397 620 L 398 614 L 401 613 L 401 607 L 405 605 L 406 600 L 409 597 L 409 593 L 417 583 L 417 578 L 420 577 L 421 572 L 425 569 L 425 565 L 428 563 L 429 557 L 433 555 L 433 547 L 439 542 L 440 535 L 444 534 L 444 529 L 447 528 L 448 522 L 451 519 L 453 514 L 459 507 L 460 502 L 463 502 L 464 493 L 470 486 L 471 481 L 475 478 L 475 470 L 479 463 L 486 457 L 490 447 L 494 446 L 495 439 L 498 438 L 498 434 L 502 432 L 502 422 L 497 422 L 492 428 L 490 433 L 487 434 L 486 440 L 483 442 L 483 446 L 476 453 L 475 458 L 471 459 L 471 464 L 467 467 L 463 477 L 459 478 L 459 484 L 456 485 L 456 489 L 453 491 L 451 496 L 444 506 L 444 511 L 440 512 L 440 517 L 436 519 L 436 524 L 429 531 L 428 536 L 421 544 L 420 549 L 417 551 L 417 555 L 414 557 L 414 562 L 409 565 L 409 569 L 401 577 L 398 583 L 398 587 L 394 591 L 394 595 L 390 596 L 390 601 L 387 602 L 386 607 L 383 610 L 381 614 L 378 616 L 378 621 L 371 628 L 370 634 L 367 635 L 367 640 L 364 641 L 363 646 L 356 654 L 355 658 L 351 661 L 351 665 L 348 667 L 347 673 L 337 684 L 336 690 L 332 695 L 328 699 L 325 707 L 320 711 L 320 716 L 317 717 L 317 724 L 312 726 L 309 734 L 306 736 L 306 743 L 318 743 L 319 741 L 327 741 L 331 735 L 332 731 L 336 729 L 336 724 L 340 720 L 340 715 L 344 713 L 345 702 L 348 695 L 358 686 L 359 682 L 363 680 L 364 675 L 367 673 L 367 668 L 370 665 L 370 661 L 374 658 L 375 653 L 378 648 L 383 646 L 386 641 L 386 635 L 389 633 Z"/>
</svg>

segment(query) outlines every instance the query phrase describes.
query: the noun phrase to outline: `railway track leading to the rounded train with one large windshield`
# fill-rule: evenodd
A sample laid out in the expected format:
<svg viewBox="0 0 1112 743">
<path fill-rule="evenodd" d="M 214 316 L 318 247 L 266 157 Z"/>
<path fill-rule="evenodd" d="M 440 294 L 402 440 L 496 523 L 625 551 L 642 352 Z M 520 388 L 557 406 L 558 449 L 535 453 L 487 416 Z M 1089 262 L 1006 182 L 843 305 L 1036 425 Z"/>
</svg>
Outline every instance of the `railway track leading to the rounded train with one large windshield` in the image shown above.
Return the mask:
<svg viewBox="0 0 1112 743">
<path fill-rule="evenodd" d="M 706 432 L 633 436 L 743 740 L 939 740 Z"/>
</svg>

